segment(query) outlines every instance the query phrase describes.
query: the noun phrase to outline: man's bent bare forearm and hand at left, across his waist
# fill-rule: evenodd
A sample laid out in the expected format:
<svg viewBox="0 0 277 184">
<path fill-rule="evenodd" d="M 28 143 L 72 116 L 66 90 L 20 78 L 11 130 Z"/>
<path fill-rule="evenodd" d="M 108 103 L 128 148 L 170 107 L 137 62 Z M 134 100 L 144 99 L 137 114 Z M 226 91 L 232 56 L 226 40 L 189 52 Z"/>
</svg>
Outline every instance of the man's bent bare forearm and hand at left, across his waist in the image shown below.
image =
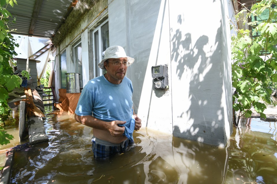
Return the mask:
<svg viewBox="0 0 277 184">
<path fill-rule="evenodd" d="M 75 114 L 75 120 L 83 125 L 97 128 L 100 130 L 106 130 L 111 133 L 112 136 L 121 136 L 124 133 L 125 127 L 118 126 L 118 124 L 125 124 L 126 121 L 112 121 L 112 122 L 105 122 L 100 119 L 97 119 L 91 115 L 87 116 L 79 116 Z"/>
</svg>

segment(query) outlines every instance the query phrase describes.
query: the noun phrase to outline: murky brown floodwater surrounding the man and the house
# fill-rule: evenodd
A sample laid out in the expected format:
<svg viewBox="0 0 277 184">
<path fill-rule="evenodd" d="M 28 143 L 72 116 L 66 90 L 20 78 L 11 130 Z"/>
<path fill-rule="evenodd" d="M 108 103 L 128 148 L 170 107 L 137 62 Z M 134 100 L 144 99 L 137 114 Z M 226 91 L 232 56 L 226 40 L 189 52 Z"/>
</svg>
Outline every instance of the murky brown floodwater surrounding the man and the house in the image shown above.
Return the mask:
<svg viewBox="0 0 277 184">
<path fill-rule="evenodd" d="M 225 147 L 142 128 L 127 152 L 101 162 L 92 129 L 66 112 L 46 107 L 44 127 L 48 143 L 15 152 L 11 183 L 277 183 L 276 122 L 243 119 Z"/>
</svg>

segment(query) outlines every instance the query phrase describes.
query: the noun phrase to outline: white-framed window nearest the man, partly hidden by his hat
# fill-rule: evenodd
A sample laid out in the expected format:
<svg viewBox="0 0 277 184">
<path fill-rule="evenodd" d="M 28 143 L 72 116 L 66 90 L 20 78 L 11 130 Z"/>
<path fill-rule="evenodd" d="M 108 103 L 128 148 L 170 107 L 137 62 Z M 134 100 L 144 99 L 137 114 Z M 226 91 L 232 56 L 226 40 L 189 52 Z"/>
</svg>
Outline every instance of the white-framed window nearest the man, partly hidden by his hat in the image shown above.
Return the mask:
<svg viewBox="0 0 277 184">
<path fill-rule="evenodd" d="M 106 73 L 98 67 L 98 63 L 104 58 L 104 51 L 109 47 L 109 24 L 108 20 L 104 21 L 98 28 L 93 30 L 93 60 L 94 60 L 94 77 Z"/>
</svg>

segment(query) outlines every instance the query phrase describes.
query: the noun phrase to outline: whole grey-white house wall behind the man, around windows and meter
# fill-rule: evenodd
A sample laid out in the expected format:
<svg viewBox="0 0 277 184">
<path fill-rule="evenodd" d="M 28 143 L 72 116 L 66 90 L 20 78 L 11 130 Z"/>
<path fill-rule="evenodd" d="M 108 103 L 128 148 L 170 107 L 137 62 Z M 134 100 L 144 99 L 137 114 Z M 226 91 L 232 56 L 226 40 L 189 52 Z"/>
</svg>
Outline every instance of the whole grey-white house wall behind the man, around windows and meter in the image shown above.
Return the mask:
<svg viewBox="0 0 277 184">
<path fill-rule="evenodd" d="M 75 40 L 82 39 L 82 49 L 88 45 L 82 54 L 86 84 L 95 67 L 90 33 L 108 18 L 110 45 L 121 45 L 135 59 L 126 76 L 133 83 L 134 110 L 143 126 L 225 145 L 232 132 L 230 6 L 228 0 L 98 1 L 59 47 L 71 55 Z M 155 89 L 151 67 L 163 64 L 168 66 L 169 88 Z"/>
</svg>

